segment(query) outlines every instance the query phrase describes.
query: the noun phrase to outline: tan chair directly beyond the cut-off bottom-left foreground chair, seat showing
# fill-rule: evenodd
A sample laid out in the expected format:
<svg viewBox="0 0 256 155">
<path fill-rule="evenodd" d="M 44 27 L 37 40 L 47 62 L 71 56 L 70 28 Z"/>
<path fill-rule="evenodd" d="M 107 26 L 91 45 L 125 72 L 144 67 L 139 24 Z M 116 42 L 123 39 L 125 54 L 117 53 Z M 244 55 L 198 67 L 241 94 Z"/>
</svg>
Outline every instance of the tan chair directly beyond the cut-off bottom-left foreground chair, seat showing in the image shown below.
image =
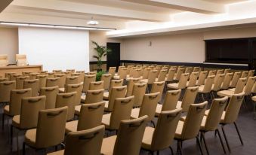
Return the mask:
<svg viewBox="0 0 256 155">
<path fill-rule="evenodd" d="M 100 126 L 104 113 L 104 105 L 105 102 L 83 104 L 81 106 L 79 120 L 66 123 L 66 134 Z"/>
</svg>

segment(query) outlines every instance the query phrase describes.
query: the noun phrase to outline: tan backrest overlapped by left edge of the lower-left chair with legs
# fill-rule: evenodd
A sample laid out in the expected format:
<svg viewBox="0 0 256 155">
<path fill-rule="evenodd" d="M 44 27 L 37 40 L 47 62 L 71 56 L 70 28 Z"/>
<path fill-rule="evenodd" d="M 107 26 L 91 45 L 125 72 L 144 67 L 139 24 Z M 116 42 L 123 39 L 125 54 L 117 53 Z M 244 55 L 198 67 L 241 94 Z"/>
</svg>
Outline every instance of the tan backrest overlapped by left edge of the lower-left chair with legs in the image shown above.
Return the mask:
<svg viewBox="0 0 256 155">
<path fill-rule="evenodd" d="M 20 109 L 20 128 L 32 129 L 37 126 L 39 111 L 45 109 L 46 96 L 26 97 L 22 99 Z"/>
</svg>

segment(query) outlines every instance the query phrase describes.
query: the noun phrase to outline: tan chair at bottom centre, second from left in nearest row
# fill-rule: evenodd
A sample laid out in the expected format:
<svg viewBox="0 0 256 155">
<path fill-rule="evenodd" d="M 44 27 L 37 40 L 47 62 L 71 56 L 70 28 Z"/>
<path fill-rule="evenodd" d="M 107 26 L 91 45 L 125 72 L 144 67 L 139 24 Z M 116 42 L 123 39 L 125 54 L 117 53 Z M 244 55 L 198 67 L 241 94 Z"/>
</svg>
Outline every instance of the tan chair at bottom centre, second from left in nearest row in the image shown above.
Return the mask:
<svg viewBox="0 0 256 155">
<path fill-rule="evenodd" d="M 147 125 L 147 116 L 134 120 L 122 120 L 117 135 L 103 138 L 103 154 L 139 154 L 143 134 Z"/>
</svg>

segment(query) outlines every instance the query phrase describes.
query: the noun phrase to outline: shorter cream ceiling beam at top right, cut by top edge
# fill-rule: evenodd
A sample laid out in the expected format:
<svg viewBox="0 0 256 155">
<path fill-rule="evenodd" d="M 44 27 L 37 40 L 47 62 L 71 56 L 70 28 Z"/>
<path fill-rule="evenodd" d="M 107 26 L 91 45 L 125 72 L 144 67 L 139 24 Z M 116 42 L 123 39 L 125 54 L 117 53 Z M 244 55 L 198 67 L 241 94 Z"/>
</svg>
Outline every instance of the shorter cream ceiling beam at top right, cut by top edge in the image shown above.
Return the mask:
<svg viewBox="0 0 256 155">
<path fill-rule="evenodd" d="M 205 2 L 202 0 L 122 0 L 126 2 L 134 2 L 143 5 L 153 5 L 162 8 L 171 8 L 182 11 L 191 11 L 202 14 L 224 13 L 224 5 L 214 2 Z"/>
</svg>

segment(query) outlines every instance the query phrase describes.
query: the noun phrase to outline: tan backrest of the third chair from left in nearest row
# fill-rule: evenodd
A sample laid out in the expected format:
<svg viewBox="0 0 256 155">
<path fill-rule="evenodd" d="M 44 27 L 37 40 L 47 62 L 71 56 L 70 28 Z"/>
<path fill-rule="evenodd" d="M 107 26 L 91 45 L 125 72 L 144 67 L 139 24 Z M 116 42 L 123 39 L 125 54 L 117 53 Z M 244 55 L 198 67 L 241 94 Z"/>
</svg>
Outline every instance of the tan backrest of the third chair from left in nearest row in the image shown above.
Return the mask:
<svg viewBox="0 0 256 155">
<path fill-rule="evenodd" d="M 161 112 L 153 133 L 151 150 L 164 150 L 172 144 L 180 115 L 181 108 Z"/>
</svg>

